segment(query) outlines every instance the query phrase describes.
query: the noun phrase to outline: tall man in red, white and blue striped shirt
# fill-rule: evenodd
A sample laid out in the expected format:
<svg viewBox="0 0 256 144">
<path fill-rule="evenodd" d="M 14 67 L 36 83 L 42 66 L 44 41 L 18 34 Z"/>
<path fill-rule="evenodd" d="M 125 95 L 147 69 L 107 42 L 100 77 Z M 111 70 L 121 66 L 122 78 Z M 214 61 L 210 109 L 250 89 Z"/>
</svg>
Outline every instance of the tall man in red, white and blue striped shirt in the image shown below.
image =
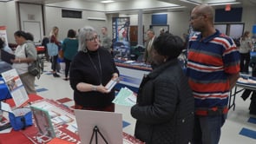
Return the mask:
<svg viewBox="0 0 256 144">
<path fill-rule="evenodd" d="M 194 144 L 218 144 L 226 120 L 229 90 L 240 72 L 240 53 L 233 39 L 213 26 L 214 10 L 199 5 L 190 24 L 198 31 L 189 40 L 187 76 L 195 102 Z"/>
</svg>

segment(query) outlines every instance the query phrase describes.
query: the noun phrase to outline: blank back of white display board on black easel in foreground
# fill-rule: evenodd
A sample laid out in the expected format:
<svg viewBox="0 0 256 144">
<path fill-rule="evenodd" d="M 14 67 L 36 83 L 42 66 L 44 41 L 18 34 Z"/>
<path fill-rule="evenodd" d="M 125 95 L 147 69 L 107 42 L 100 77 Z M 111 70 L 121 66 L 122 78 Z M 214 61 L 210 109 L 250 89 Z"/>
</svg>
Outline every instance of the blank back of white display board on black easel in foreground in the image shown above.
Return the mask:
<svg viewBox="0 0 256 144">
<path fill-rule="evenodd" d="M 123 143 L 121 114 L 75 109 L 75 120 L 81 143 Z"/>
</svg>

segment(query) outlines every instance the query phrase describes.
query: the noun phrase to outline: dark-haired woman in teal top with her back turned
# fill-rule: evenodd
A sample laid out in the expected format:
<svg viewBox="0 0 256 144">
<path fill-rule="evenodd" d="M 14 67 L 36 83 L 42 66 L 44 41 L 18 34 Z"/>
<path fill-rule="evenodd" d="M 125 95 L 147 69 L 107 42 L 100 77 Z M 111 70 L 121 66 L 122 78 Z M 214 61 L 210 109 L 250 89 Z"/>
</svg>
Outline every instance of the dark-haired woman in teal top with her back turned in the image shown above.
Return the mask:
<svg viewBox="0 0 256 144">
<path fill-rule="evenodd" d="M 63 40 L 62 50 L 64 53 L 64 62 L 65 62 L 64 80 L 68 81 L 70 62 L 72 62 L 78 50 L 78 40 L 75 36 L 74 29 L 69 29 L 67 38 Z"/>
</svg>

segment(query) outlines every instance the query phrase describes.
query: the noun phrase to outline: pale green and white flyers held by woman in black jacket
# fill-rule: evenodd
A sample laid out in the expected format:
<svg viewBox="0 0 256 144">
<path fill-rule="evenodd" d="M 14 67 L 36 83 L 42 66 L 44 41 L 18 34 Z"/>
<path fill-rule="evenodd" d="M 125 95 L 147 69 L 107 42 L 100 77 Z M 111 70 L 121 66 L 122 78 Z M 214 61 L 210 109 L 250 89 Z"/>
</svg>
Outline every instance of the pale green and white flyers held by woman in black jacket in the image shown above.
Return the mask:
<svg viewBox="0 0 256 144">
<path fill-rule="evenodd" d="M 117 105 L 122 106 L 133 106 L 136 104 L 136 95 L 129 88 L 121 88 L 119 93 L 115 96 L 115 99 L 112 101 Z"/>
</svg>

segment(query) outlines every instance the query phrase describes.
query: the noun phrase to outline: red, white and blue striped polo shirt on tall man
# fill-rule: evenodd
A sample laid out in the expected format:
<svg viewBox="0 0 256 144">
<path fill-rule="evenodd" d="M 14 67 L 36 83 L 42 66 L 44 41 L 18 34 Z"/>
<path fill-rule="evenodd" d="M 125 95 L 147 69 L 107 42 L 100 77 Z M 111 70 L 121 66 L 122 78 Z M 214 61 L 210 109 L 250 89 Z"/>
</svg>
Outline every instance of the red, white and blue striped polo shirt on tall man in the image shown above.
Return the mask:
<svg viewBox="0 0 256 144">
<path fill-rule="evenodd" d="M 227 105 L 228 76 L 240 71 L 240 53 L 233 39 L 216 32 L 201 40 L 196 34 L 189 40 L 187 76 L 193 89 L 195 108 Z"/>
</svg>

